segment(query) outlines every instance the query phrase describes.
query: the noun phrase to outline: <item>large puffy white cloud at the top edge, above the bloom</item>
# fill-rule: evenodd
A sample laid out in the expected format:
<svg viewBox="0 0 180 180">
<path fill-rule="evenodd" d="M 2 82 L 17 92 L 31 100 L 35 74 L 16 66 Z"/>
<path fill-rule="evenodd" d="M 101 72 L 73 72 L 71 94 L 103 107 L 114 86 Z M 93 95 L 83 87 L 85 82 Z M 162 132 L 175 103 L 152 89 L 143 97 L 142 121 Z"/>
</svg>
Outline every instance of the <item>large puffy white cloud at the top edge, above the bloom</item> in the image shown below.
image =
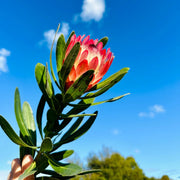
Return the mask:
<svg viewBox="0 0 180 180">
<path fill-rule="evenodd" d="M 84 0 L 80 17 L 83 21 L 100 21 L 105 12 L 105 0 Z"/>
</svg>

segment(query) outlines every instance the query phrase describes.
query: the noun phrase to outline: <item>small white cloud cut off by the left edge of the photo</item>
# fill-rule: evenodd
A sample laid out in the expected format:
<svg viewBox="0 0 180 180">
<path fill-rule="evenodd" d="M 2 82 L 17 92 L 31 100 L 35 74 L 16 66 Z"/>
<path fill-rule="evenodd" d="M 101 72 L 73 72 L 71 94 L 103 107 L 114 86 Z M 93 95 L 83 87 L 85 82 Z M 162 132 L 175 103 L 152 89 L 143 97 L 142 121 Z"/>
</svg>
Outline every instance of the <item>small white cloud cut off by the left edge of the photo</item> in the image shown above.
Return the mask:
<svg viewBox="0 0 180 180">
<path fill-rule="evenodd" d="M 7 72 L 7 56 L 10 56 L 11 52 L 5 48 L 0 49 L 0 72 Z"/>
</svg>

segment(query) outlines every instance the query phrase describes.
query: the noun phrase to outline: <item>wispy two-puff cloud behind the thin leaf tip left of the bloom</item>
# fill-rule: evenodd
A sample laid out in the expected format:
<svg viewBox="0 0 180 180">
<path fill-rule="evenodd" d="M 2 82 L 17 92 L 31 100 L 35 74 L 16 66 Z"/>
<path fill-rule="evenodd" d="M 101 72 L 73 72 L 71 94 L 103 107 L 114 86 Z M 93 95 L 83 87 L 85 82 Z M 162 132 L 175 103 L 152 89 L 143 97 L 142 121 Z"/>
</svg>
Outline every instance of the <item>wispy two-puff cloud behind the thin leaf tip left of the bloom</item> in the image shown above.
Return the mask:
<svg viewBox="0 0 180 180">
<path fill-rule="evenodd" d="M 65 36 L 65 38 L 67 38 L 68 34 L 69 34 L 69 24 L 68 23 L 62 23 L 61 27 L 60 27 L 60 31 L 57 33 L 56 35 L 56 39 L 55 39 L 55 44 L 59 38 L 59 36 L 61 34 L 63 34 Z M 47 44 L 48 48 L 51 48 L 52 42 L 54 40 L 55 37 L 55 33 L 56 31 L 54 29 L 50 29 L 48 31 L 45 31 L 43 36 L 44 39 L 42 41 L 39 42 L 40 45 L 42 44 Z"/>
</svg>

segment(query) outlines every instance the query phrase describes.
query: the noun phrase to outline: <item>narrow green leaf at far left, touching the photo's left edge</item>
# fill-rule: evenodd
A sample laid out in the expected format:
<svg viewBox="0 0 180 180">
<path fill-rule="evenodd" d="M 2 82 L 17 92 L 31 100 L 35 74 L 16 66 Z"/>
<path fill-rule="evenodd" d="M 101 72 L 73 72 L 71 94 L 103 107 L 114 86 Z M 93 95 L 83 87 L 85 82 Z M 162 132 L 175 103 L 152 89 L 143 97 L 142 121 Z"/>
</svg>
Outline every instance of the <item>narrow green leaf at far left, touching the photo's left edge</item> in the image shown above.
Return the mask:
<svg viewBox="0 0 180 180">
<path fill-rule="evenodd" d="M 0 115 L 0 126 L 3 129 L 3 131 L 6 133 L 6 135 L 11 139 L 12 142 L 15 144 L 18 144 L 20 146 L 29 147 L 32 149 L 37 149 L 35 146 L 29 146 L 26 144 L 13 130 L 13 128 L 10 126 L 10 124 Z"/>
</svg>

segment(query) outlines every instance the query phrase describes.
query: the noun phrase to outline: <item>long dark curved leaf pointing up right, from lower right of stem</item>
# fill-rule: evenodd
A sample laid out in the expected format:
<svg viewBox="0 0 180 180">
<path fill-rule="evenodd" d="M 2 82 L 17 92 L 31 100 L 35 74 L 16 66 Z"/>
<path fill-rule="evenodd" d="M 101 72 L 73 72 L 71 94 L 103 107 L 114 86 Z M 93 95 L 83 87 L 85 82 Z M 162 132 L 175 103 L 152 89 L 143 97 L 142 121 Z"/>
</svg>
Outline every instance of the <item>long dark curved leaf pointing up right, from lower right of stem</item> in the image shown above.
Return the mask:
<svg viewBox="0 0 180 180">
<path fill-rule="evenodd" d="M 83 134 L 85 134 L 90 129 L 92 124 L 94 123 L 94 121 L 97 117 L 97 111 L 94 114 L 96 114 L 96 116 L 91 116 L 77 131 L 72 133 L 66 139 L 65 138 L 61 139 L 58 143 L 56 143 L 54 145 L 54 149 L 61 146 L 62 144 L 66 144 L 66 143 L 69 143 L 71 141 L 74 141 L 74 140 L 78 139 L 79 137 L 81 137 Z"/>
</svg>

